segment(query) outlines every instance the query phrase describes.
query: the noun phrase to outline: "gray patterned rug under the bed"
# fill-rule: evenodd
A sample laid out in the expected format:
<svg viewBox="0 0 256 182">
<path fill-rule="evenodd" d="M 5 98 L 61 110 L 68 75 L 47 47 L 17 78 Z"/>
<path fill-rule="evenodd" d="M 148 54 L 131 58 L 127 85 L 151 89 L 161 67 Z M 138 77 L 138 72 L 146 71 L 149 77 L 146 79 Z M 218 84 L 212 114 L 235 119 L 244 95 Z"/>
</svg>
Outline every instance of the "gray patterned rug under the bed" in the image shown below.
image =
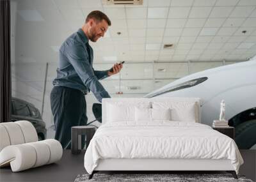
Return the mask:
<svg viewBox="0 0 256 182">
<path fill-rule="evenodd" d="M 238 176 L 239 179 L 234 179 L 232 174 L 94 174 L 92 179 L 88 179 L 89 174 L 78 175 L 75 182 L 93 182 L 93 181 L 171 181 L 171 182 L 190 182 L 190 181 L 210 181 L 210 182 L 226 182 L 226 181 L 243 181 L 253 182 L 251 179 L 246 179 L 244 176 Z"/>
</svg>

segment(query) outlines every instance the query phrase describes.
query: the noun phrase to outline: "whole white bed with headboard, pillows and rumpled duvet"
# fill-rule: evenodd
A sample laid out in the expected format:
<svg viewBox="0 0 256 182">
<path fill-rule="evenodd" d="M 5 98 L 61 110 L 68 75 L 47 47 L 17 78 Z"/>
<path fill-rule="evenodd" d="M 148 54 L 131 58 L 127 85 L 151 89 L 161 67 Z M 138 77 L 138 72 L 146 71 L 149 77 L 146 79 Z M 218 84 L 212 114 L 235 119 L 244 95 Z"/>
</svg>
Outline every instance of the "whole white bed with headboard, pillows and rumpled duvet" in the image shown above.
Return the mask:
<svg viewBox="0 0 256 182">
<path fill-rule="evenodd" d="M 104 99 L 102 123 L 84 155 L 84 167 L 92 175 L 233 171 L 236 177 L 243 163 L 234 140 L 200 124 L 199 98 Z"/>
</svg>

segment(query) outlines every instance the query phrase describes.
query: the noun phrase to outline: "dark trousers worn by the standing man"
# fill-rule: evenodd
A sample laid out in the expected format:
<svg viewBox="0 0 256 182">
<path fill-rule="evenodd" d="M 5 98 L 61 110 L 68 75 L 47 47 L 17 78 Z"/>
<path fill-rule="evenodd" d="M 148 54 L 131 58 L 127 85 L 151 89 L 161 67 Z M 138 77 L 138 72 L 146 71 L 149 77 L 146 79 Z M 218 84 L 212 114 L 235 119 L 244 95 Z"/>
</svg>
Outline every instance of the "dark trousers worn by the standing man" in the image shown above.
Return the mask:
<svg viewBox="0 0 256 182">
<path fill-rule="evenodd" d="M 71 127 L 87 123 L 86 101 L 78 89 L 53 87 L 51 91 L 51 109 L 54 116 L 55 139 L 63 149 L 71 148 Z M 84 137 L 82 136 L 82 148 Z"/>
</svg>

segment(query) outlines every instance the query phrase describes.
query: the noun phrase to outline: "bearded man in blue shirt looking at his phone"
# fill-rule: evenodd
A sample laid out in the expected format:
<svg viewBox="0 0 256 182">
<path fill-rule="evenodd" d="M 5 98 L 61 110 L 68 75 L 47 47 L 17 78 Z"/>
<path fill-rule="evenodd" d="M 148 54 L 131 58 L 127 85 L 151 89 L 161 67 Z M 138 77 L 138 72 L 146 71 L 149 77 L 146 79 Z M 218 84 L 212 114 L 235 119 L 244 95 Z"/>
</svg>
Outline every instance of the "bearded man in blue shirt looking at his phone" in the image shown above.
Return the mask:
<svg viewBox="0 0 256 182">
<path fill-rule="evenodd" d="M 99 102 L 110 98 L 100 84 L 100 79 L 114 75 L 122 64 L 114 64 L 113 70 L 93 70 L 93 50 L 89 40 L 97 40 L 111 26 L 111 21 L 101 11 L 92 11 L 86 17 L 84 26 L 72 34 L 60 47 L 60 61 L 57 77 L 52 82 L 51 109 L 56 129 L 55 139 L 65 149 L 70 149 L 72 126 L 86 125 L 86 101 L 84 95 L 92 91 Z"/>
</svg>

